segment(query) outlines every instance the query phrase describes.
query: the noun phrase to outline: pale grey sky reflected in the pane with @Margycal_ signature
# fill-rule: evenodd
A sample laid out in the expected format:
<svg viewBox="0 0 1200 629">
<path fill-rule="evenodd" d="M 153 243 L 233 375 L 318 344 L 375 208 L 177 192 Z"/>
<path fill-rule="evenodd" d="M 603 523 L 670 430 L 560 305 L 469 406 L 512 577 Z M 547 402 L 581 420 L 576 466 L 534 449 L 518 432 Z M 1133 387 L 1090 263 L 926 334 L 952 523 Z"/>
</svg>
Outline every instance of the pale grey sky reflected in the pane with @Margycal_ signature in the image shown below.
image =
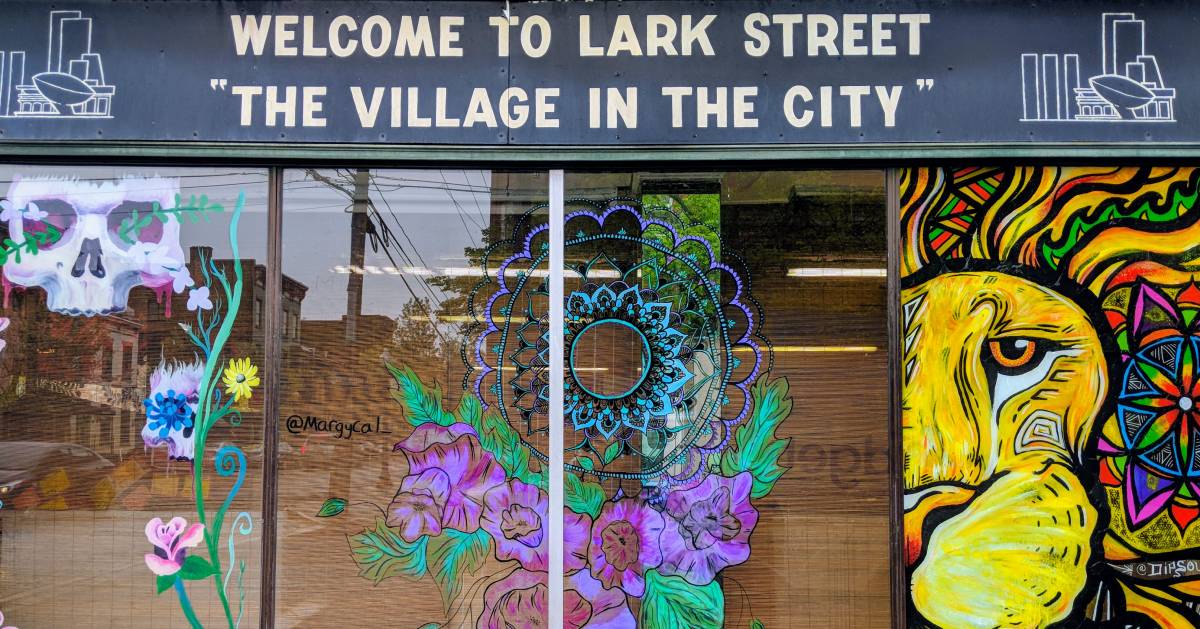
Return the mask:
<svg viewBox="0 0 1200 629">
<path fill-rule="evenodd" d="M 430 278 L 474 271 L 467 250 L 482 244 L 496 179 L 491 170 L 371 170 L 366 188 L 374 233 L 366 235 L 359 268 L 350 259 L 353 198 L 355 185 L 362 185 L 355 170 L 288 170 L 283 272 L 308 287 L 302 317 L 341 318 L 355 272 L 364 275 L 364 314 L 395 317 L 413 298 L 439 304 L 454 296 Z"/>
</svg>

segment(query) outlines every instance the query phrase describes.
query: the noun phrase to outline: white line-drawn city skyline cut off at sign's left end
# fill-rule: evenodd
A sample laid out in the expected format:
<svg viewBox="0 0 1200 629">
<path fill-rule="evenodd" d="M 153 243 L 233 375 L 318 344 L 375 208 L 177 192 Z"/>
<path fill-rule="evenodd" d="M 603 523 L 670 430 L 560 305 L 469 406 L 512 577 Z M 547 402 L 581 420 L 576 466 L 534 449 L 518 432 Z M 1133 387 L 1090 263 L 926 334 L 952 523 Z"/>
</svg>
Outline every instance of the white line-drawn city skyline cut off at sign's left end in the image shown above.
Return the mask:
<svg viewBox="0 0 1200 629">
<path fill-rule="evenodd" d="M 112 118 L 116 88 L 92 50 L 91 18 L 50 11 L 46 71 L 26 77 L 28 50 L 0 50 L 0 118 Z"/>
</svg>

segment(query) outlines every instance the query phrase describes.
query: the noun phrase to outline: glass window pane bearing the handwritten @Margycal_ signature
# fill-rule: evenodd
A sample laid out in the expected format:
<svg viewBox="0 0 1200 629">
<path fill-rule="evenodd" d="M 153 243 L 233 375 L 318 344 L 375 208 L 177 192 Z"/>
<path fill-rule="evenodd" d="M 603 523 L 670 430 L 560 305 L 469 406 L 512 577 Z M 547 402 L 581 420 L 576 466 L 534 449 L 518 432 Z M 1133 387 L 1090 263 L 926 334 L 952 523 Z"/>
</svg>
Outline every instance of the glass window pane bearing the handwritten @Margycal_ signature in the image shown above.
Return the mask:
<svg viewBox="0 0 1200 629">
<path fill-rule="evenodd" d="M 546 194 L 287 172 L 281 625 L 545 623 Z"/>
</svg>

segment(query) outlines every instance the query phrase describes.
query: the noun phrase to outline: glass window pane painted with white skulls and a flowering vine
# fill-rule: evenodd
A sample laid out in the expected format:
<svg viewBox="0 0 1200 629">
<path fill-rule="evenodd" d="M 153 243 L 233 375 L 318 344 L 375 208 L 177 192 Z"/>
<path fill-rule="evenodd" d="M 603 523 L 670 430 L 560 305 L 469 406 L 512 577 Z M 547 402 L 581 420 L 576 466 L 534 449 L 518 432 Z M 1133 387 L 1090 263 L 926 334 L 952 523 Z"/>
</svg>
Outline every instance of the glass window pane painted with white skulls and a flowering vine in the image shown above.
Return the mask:
<svg viewBox="0 0 1200 629">
<path fill-rule="evenodd" d="M 0 624 L 253 627 L 266 173 L 0 186 Z"/>
</svg>

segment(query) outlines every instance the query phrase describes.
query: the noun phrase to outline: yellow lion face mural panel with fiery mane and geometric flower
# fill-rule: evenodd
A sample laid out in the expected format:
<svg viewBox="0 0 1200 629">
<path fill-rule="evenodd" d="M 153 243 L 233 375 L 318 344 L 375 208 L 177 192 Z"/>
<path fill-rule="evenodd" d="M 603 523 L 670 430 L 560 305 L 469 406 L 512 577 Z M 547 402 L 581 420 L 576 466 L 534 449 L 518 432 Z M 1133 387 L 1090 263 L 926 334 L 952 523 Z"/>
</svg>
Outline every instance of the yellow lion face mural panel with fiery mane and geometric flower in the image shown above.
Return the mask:
<svg viewBox="0 0 1200 629">
<path fill-rule="evenodd" d="M 913 627 L 1200 627 L 1200 169 L 913 168 Z"/>
</svg>

